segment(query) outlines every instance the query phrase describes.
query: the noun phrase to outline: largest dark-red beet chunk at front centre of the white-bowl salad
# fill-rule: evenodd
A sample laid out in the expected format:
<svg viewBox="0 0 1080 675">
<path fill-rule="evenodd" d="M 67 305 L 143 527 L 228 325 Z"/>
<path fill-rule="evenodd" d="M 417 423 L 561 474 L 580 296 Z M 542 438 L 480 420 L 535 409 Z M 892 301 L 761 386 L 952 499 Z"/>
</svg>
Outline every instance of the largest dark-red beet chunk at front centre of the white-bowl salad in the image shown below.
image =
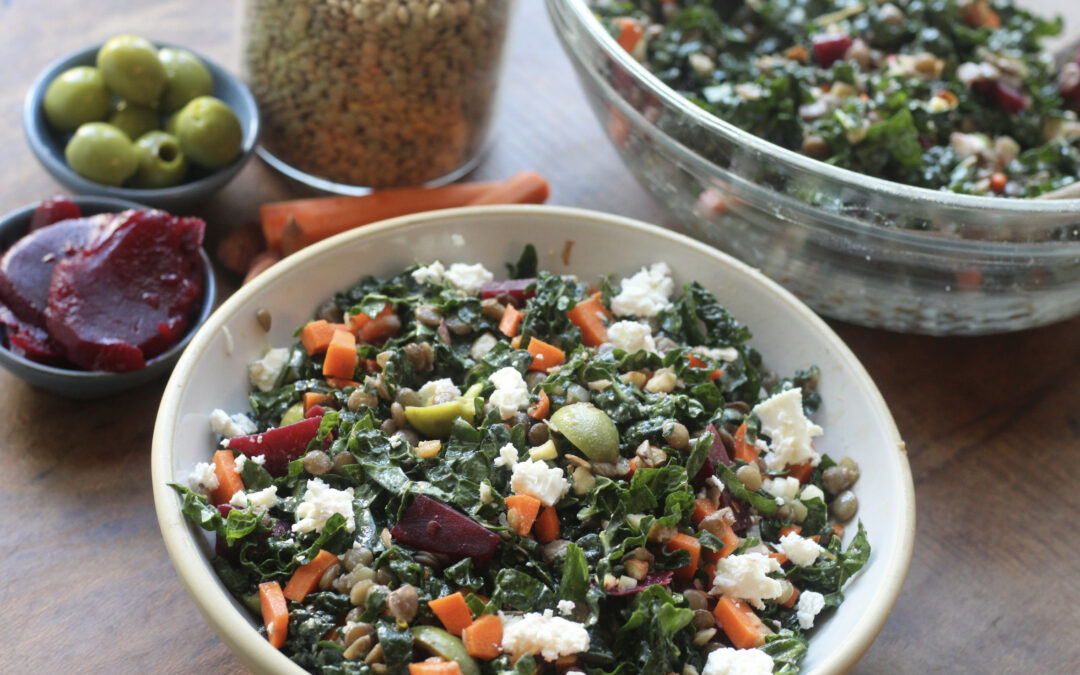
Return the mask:
<svg viewBox="0 0 1080 675">
<path fill-rule="evenodd" d="M 501 541 L 476 521 L 424 495 L 417 495 L 390 535 L 409 546 L 457 559 L 471 557 L 480 565 L 487 565 Z"/>
</svg>

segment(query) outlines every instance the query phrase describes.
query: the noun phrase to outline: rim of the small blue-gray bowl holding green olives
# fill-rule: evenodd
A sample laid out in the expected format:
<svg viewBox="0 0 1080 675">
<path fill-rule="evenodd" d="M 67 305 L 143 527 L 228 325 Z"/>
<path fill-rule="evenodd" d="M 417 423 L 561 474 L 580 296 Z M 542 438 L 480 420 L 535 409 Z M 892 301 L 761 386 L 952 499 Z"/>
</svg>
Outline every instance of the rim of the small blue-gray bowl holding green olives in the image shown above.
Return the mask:
<svg viewBox="0 0 1080 675">
<path fill-rule="evenodd" d="M 240 154 L 238 154 L 235 159 L 225 166 L 220 166 L 197 180 L 181 183 L 180 185 L 174 185 L 167 188 L 126 188 L 122 186 L 111 186 L 105 185 L 104 183 L 96 183 L 77 174 L 75 170 L 68 166 L 66 161 L 57 159 L 57 157 L 55 157 L 48 149 L 55 147 L 55 144 L 45 129 L 49 122 L 44 118 L 43 106 L 45 90 L 49 89 L 49 84 L 53 81 L 53 79 L 69 68 L 73 68 L 79 65 L 86 65 L 83 62 L 85 62 L 87 57 L 95 54 L 104 45 L 104 43 L 93 44 L 75 50 L 73 52 L 69 52 L 50 62 L 49 65 L 46 65 L 33 79 L 33 82 L 30 83 L 30 86 L 26 92 L 26 96 L 23 99 L 23 132 L 26 136 L 27 145 L 30 146 L 30 150 L 33 152 L 33 156 L 44 165 L 49 173 L 54 175 L 62 174 L 65 183 L 70 184 L 72 189 L 80 194 L 100 194 L 126 199 L 135 202 L 144 200 L 147 202 L 154 202 L 160 200 L 176 199 L 186 194 L 198 193 L 202 190 L 213 190 L 220 181 L 222 181 L 222 179 L 228 180 L 231 176 L 239 173 L 240 170 L 243 168 L 243 166 L 252 159 L 252 156 L 255 154 L 255 147 L 258 144 L 259 134 L 262 130 L 262 116 L 259 113 L 258 105 L 255 103 L 255 96 L 252 94 L 252 90 L 247 86 L 247 84 L 241 78 L 229 72 L 214 59 L 208 58 L 202 53 L 190 48 L 173 44 L 171 42 L 158 42 L 156 40 L 151 40 L 150 42 L 158 49 L 178 49 L 194 54 L 206 66 L 206 69 L 210 71 L 211 78 L 215 84 L 220 81 L 222 83 L 227 83 L 227 86 L 237 91 L 240 99 L 243 100 L 244 108 L 243 118 L 239 113 L 237 114 L 237 119 L 240 121 L 241 132 L 243 133 Z M 90 60 L 93 63 L 93 58 Z M 246 118 L 246 122 L 244 118 Z M 63 157 L 64 149 L 59 148 L 57 151 L 59 156 Z"/>
</svg>

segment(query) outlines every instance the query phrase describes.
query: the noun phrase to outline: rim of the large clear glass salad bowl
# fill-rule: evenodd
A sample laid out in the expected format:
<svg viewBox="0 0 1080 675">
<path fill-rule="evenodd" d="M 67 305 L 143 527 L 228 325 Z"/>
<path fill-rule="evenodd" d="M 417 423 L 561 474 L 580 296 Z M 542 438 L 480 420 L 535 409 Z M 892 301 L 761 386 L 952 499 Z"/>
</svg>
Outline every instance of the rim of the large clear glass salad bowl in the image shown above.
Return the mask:
<svg viewBox="0 0 1080 675">
<path fill-rule="evenodd" d="M 820 160 L 806 157 L 794 150 L 789 150 L 774 143 L 766 140 L 747 131 L 744 131 L 730 122 L 700 108 L 686 97 L 679 95 L 673 89 L 664 84 L 650 72 L 643 64 L 638 63 L 630 53 L 619 46 L 596 16 L 589 9 L 585 0 L 545 0 L 549 11 L 552 14 L 564 12 L 571 13 L 578 24 L 585 29 L 605 53 L 605 56 L 617 62 L 620 67 L 631 72 L 637 83 L 657 96 L 665 105 L 677 109 L 681 114 L 692 119 L 702 127 L 719 134 L 739 144 L 740 146 L 760 153 L 765 157 L 773 157 L 788 163 L 800 171 L 823 176 L 831 180 L 843 183 L 861 190 L 870 190 L 894 200 L 913 200 L 935 206 L 967 210 L 997 210 L 1016 216 L 1030 216 L 1031 214 L 1063 215 L 1068 213 L 1080 213 L 1080 199 L 1002 199 L 995 197 L 980 197 L 975 194 L 961 194 L 944 190 L 932 190 L 916 186 L 904 185 L 885 178 L 877 178 L 865 174 L 860 174 L 850 168 L 833 166 Z M 563 36 L 561 36 L 562 38 Z M 565 43 L 565 40 L 564 40 Z M 571 48 L 572 50 L 572 48 Z M 689 149 L 688 149 L 689 150 Z M 692 153 L 692 150 L 690 151 Z M 1026 222 L 1020 222 L 1021 227 Z M 866 226 L 863 226 L 864 228 Z M 875 226 L 879 229 L 880 226 Z M 1032 226 L 1034 227 L 1034 226 Z M 981 243 L 986 243 L 982 242 Z M 1054 242 L 1057 243 L 1057 242 Z"/>
</svg>

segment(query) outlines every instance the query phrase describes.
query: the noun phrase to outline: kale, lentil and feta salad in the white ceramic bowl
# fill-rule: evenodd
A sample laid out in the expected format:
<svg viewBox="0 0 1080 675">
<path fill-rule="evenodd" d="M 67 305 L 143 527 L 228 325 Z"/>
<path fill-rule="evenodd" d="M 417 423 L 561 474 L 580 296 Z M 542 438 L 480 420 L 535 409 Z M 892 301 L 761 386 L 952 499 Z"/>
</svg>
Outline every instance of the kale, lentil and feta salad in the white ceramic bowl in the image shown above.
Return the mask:
<svg viewBox="0 0 1080 675">
<path fill-rule="evenodd" d="M 798 672 L 869 558 L 819 372 L 665 264 L 365 278 L 248 366 L 183 512 L 315 673 Z"/>
</svg>

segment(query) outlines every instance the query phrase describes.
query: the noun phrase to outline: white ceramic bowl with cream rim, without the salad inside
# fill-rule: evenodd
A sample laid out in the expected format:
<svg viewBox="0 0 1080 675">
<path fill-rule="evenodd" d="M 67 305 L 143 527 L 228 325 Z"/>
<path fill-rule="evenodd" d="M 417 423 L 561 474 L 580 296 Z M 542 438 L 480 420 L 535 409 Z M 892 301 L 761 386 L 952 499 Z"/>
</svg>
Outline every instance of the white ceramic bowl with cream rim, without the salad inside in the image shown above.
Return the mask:
<svg viewBox="0 0 1080 675">
<path fill-rule="evenodd" d="M 568 262 L 562 257 L 572 242 Z M 335 291 L 364 274 L 399 272 L 418 260 L 483 262 L 501 271 L 522 246 L 538 244 L 542 269 L 596 279 L 666 261 L 676 283 L 700 281 L 754 332 L 752 345 L 779 373 L 818 364 L 824 405 L 819 450 L 862 468 L 859 517 L 873 555 L 845 591 L 847 600 L 815 629 L 807 674 L 849 670 L 885 624 L 904 583 L 915 536 L 915 496 L 904 444 L 881 394 L 851 351 L 789 293 L 714 248 L 667 230 L 588 211 L 497 206 L 432 212 L 367 226 L 289 256 L 229 298 L 203 325 L 173 372 L 153 432 L 158 521 L 181 580 L 203 616 L 240 659 L 260 673 L 302 673 L 254 629 L 218 581 L 212 542 L 180 514 L 166 485 L 185 482 L 214 449 L 206 416 L 247 409 L 246 364 L 267 345 L 293 341 L 297 326 Z M 267 334 L 255 313 L 272 315 Z"/>
</svg>

